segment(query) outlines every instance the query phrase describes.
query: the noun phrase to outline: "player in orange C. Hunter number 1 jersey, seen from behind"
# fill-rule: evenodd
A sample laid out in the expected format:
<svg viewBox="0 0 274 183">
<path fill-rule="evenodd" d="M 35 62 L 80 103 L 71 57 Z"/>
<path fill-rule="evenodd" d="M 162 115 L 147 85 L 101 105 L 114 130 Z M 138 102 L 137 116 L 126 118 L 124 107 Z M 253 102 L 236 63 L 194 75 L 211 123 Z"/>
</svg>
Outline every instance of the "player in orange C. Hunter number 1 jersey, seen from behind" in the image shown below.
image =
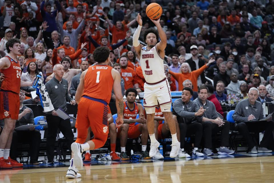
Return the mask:
<svg viewBox="0 0 274 183">
<path fill-rule="evenodd" d="M 110 61 L 108 47 L 98 47 L 93 52 L 94 61 L 98 65 L 90 66 L 82 72 L 80 83 L 76 90 L 75 101 L 78 112 L 75 127 L 77 139 L 71 144 L 71 163 L 67 171 L 67 178 L 78 178 L 77 168 L 83 167 L 82 153 L 102 147 L 108 137 L 108 103 L 113 88 L 116 96 L 117 120 L 116 126 L 123 121 L 123 96 L 121 94 L 121 76 L 118 71 L 108 65 Z M 91 128 L 94 139 L 84 143 L 88 127 Z M 84 143 L 84 144 L 83 144 Z"/>
</svg>

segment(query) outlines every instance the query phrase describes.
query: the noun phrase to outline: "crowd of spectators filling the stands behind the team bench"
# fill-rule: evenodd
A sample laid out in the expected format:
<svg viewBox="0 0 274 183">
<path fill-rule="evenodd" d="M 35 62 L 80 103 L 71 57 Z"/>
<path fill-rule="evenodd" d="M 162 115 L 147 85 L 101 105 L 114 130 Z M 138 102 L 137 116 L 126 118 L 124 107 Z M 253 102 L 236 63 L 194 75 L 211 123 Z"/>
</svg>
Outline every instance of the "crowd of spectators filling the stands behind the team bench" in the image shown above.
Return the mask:
<svg viewBox="0 0 274 183">
<path fill-rule="evenodd" d="M 0 0 L 1 57 L 7 55 L 6 42 L 17 37 L 21 79 L 32 81 L 40 73 L 46 83 L 54 76 L 53 66 L 61 63 L 73 97 L 79 73 L 96 64 L 94 49 L 107 46 L 110 64 L 121 73 L 122 93 L 143 91 L 145 80 L 130 35 L 138 26 L 138 13 L 142 31 L 155 26 L 146 16 L 153 2 L 163 8 L 164 62 L 172 91 L 187 85 L 197 98 L 198 87 L 212 84 L 211 94 L 226 101 L 232 94 L 247 99 L 250 88 L 265 86 L 267 100 L 274 98 L 274 0 Z M 142 31 L 139 39 L 145 42 Z M 258 99 L 265 101 L 261 95 Z"/>
</svg>

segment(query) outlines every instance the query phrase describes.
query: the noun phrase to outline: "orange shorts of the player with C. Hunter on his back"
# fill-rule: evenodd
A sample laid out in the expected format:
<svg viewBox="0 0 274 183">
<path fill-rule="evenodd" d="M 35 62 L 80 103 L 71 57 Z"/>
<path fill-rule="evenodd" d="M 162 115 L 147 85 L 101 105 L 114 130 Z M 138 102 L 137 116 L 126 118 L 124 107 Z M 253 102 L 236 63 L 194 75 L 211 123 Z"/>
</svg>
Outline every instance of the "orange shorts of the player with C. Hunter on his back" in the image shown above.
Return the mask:
<svg viewBox="0 0 274 183">
<path fill-rule="evenodd" d="M 94 149 L 98 149 L 106 143 L 108 138 L 108 106 L 100 99 L 83 96 L 78 104 L 78 112 L 75 128 L 77 128 L 77 139 L 75 142 L 83 144 L 86 140 L 88 127 L 94 134 L 92 140 Z"/>
</svg>

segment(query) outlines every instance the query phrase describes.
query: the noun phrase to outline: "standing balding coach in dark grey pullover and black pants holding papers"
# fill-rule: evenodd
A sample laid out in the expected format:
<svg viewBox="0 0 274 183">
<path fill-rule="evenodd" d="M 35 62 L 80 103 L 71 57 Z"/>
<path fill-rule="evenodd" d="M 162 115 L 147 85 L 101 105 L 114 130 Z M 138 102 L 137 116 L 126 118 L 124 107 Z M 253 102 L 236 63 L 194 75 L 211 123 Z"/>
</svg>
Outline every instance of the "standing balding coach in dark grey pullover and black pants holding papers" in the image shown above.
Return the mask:
<svg viewBox="0 0 274 183">
<path fill-rule="evenodd" d="M 53 67 L 53 78 L 46 83 L 46 89 L 51 99 L 51 103 L 55 110 L 61 108 L 63 111 L 67 111 L 67 102 L 75 105 L 75 101 L 68 94 L 68 81 L 63 79 L 64 67 L 61 64 L 56 64 Z M 74 142 L 73 132 L 70 126 L 70 119 L 63 120 L 58 117 L 57 112 L 53 110 L 46 113 L 47 124 L 48 124 L 48 135 L 47 135 L 47 156 L 48 163 L 54 164 L 54 144 L 57 136 L 57 129 L 59 128 L 62 134 L 65 136 L 68 144 L 68 148 L 71 152 L 70 145 Z"/>
</svg>

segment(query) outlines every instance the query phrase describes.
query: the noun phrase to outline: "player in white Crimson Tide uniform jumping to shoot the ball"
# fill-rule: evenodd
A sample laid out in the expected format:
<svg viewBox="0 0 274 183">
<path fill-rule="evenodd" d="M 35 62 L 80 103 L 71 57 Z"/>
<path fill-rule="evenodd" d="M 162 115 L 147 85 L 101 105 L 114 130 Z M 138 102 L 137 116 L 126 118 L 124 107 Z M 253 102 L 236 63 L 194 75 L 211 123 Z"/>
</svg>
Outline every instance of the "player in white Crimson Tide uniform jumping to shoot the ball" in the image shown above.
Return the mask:
<svg viewBox="0 0 274 183">
<path fill-rule="evenodd" d="M 156 20 L 150 19 L 156 25 L 159 32 L 153 28 L 145 30 L 143 35 L 147 45 L 141 45 L 138 39 L 143 21 L 139 13 L 136 20 L 139 25 L 133 35 L 133 46 L 140 56 L 140 63 L 146 80 L 144 84 L 144 108 L 147 113 L 147 127 L 151 141 L 149 156 L 154 156 L 160 145 L 154 135 L 155 107 L 160 105 L 170 127 L 172 136 L 170 157 L 174 158 L 178 155 L 180 143 L 176 137 L 175 121 L 171 113 L 172 100 L 170 96 L 170 86 L 164 72 L 166 34 L 160 25 L 160 18 Z M 159 36 L 161 39 L 160 42 L 158 42 Z"/>
</svg>

